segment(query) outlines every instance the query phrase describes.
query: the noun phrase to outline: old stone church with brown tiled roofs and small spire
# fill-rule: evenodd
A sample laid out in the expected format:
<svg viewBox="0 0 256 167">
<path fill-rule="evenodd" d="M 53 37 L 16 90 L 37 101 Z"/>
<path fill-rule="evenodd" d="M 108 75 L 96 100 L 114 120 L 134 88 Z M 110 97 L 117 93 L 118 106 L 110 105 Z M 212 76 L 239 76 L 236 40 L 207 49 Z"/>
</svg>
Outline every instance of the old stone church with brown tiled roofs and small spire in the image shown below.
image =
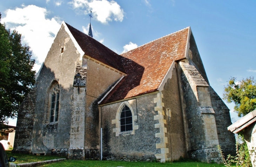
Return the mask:
<svg viewBox="0 0 256 167">
<path fill-rule="evenodd" d="M 221 162 L 217 145 L 235 153 L 231 124 L 190 27 L 119 55 L 62 22 L 20 105 L 13 152 Z"/>
</svg>

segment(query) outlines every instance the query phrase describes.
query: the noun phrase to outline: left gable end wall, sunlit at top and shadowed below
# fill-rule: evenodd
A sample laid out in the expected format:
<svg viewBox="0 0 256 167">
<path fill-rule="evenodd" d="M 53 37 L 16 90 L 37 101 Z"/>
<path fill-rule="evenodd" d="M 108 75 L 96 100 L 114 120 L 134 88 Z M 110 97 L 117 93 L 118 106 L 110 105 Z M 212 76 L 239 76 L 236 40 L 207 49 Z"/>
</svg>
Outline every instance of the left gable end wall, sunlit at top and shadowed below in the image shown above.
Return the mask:
<svg viewBox="0 0 256 167">
<path fill-rule="evenodd" d="M 61 53 L 63 48 L 63 53 Z M 72 111 L 73 81 L 75 70 L 81 65 L 81 56 L 62 25 L 50 48 L 37 78 L 38 91 L 33 127 L 33 154 L 61 154 L 67 156 L 69 148 L 70 117 Z M 60 86 L 59 117 L 49 123 L 47 93 L 57 81 Z M 50 90 L 49 90 L 50 91 Z"/>
</svg>

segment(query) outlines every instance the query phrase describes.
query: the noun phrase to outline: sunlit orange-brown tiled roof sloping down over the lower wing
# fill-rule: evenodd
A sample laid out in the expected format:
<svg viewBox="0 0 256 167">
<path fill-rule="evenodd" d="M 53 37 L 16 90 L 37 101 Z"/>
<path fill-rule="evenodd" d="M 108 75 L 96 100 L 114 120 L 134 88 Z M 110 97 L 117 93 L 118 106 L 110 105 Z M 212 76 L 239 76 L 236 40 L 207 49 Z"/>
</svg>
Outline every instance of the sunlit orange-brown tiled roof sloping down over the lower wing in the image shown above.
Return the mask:
<svg viewBox="0 0 256 167">
<path fill-rule="evenodd" d="M 173 61 L 186 57 L 188 31 L 185 28 L 121 54 L 128 75 L 101 104 L 156 91 Z"/>
</svg>

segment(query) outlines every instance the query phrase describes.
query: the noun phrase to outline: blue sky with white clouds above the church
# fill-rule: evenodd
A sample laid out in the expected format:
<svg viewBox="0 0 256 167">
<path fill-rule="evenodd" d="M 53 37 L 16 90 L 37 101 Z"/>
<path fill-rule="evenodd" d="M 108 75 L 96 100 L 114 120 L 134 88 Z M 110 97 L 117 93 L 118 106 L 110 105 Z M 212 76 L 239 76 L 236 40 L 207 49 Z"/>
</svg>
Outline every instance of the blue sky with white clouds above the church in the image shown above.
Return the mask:
<svg viewBox="0 0 256 167">
<path fill-rule="evenodd" d="M 88 32 L 90 10 L 94 38 L 118 54 L 190 26 L 210 85 L 221 97 L 230 77 L 256 75 L 255 8 L 254 0 L 0 0 L 1 22 L 22 34 L 35 70 L 62 21 Z M 232 111 L 234 105 L 227 105 Z"/>
</svg>

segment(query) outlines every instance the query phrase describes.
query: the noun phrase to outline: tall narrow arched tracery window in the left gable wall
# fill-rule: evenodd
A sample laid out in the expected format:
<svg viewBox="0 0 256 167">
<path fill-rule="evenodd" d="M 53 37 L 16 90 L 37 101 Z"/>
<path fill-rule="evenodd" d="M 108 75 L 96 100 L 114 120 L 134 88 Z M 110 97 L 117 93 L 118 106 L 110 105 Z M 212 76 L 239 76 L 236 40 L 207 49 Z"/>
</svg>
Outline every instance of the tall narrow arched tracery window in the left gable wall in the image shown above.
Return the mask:
<svg viewBox="0 0 256 167">
<path fill-rule="evenodd" d="M 60 86 L 56 84 L 50 97 L 50 122 L 58 121 L 59 116 L 59 101 L 60 101 Z"/>
</svg>

